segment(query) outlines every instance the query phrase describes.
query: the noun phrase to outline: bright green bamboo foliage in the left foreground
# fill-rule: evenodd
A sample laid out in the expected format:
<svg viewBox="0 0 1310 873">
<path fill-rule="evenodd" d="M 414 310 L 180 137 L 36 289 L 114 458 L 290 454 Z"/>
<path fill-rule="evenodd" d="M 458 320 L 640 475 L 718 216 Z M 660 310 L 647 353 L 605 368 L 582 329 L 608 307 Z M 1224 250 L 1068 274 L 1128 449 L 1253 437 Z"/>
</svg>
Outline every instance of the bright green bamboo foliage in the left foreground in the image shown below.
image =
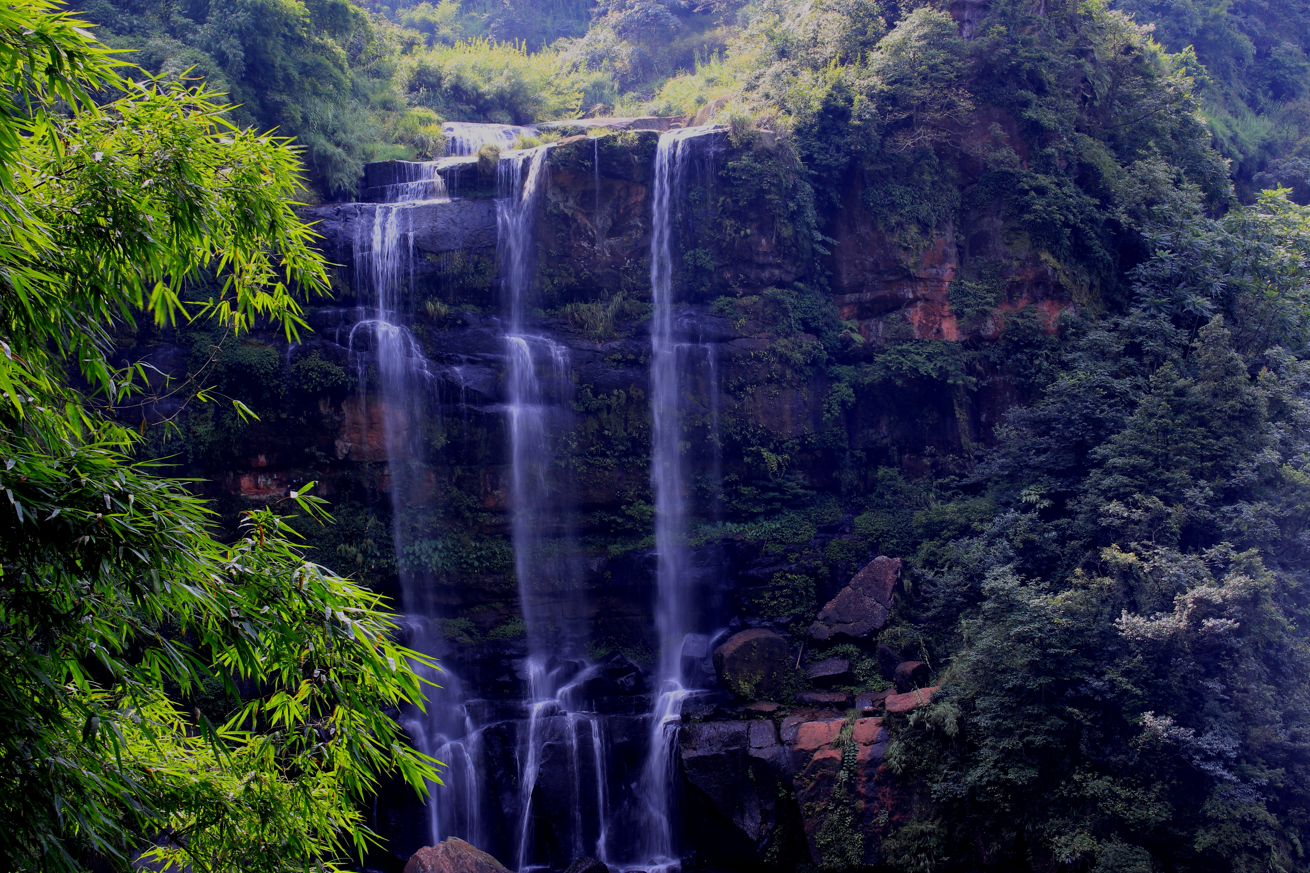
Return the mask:
<svg viewBox="0 0 1310 873">
<path fill-rule="evenodd" d="M 147 383 L 110 363 L 139 313 L 303 327 L 326 274 L 299 158 L 202 89 L 124 72 L 52 3 L 0 9 L 0 859 L 333 866 L 369 840 L 381 772 L 438 780 L 388 715 L 422 705 L 424 658 L 286 516 L 220 542 L 107 414 Z"/>
</svg>

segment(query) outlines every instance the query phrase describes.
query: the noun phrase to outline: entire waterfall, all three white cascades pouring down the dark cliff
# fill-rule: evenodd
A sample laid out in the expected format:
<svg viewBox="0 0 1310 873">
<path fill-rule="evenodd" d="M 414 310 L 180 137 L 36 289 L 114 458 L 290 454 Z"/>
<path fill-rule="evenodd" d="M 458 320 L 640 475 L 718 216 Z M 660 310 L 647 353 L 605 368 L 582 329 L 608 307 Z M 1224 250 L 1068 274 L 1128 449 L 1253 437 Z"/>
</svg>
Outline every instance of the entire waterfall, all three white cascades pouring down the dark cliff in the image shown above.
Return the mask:
<svg viewBox="0 0 1310 873">
<path fill-rule="evenodd" d="M 456 141 L 452 136 L 452 149 L 472 151 L 482 141 L 508 144 L 511 134 L 516 139 L 525 132 L 510 131 L 508 126 L 453 128 L 464 139 Z M 536 230 L 549 220 L 544 207 L 554 145 L 511 149 L 498 164 L 495 223 L 502 305 L 499 318 L 479 315 L 482 335 L 498 346 L 477 353 L 487 363 L 503 364 L 503 394 L 495 406 L 482 406 L 479 414 L 503 415 L 502 482 L 525 633 L 495 637 L 502 640 L 499 653 L 507 671 L 487 675 L 470 666 L 469 699 L 458 677 L 447 670 L 439 677 L 444 688 L 430 694 L 426 713 L 401 713 L 415 746 L 445 767 L 444 787 L 434 785 L 428 792 L 426 827 L 403 831 L 413 832 L 414 839 L 431 844 L 460 836 L 494 852 L 520 873 L 563 868 L 582 855 L 620 870 L 672 872 L 679 866 L 677 724 L 686 696 L 698 694 L 709 678 L 703 664 L 710 643 L 705 628 L 698 627 L 701 610 L 693 609 L 693 584 L 700 584 L 693 579 L 697 573 L 703 577 L 706 569 L 692 567 L 686 544 L 690 467 L 694 463 L 700 472 L 717 475 L 719 466 L 715 344 L 698 336 L 696 322 L 675 308 L 680 234 L 689 229 L 683 220 L 692 217 L 683 208 L 684 195 L 697 183 L 692 170 L 698 173 L 701 168 L 692 161 L 688 140 L 701 132 L 692 128 L 660 136 L 651 187 L 650 482 L 659 660 L 648 673 L 617 652 L 600 662 L 590 662 L 586 654 L 590 627 L 582 581 L 590 581 L 584 561 L 593 559 L 575 535 L 576 483 L 561 445 L 576 424 L 574 372 L 583 365 L 582 356 L 593 351 L 561 342 L 566 334 L 550 330 L 541 317 Z M 474 143 L 479 136 L 483 139 Z M 696 153 L 703 154 L 703 149 L 698 147 Z M 591 158 L 595 204 L 586 203 L 584 208 L 595 208 L 600 250 L 604 179 L 599 143 L 591 144 Z M 464 369 L 481 365 L 462 351 L 444 349 L 435 340 L 439 332 L 428 343 L 443 351 L 430 363 L 419 340 L 423 334 L 410 330 L 414 272 L 431 274 L 428 264 L 415 260 L 414 240 L 417 232 L 427 229 L 418 224 L 419 219 L 434 220 L 431 203 L 449 199 L 443 181 L 445 168 L 469 160 L 449 157 L 388 168 L 392 175 L 383 178 L 389 183 L 369 188 L 381 202 L 360 204 L 362 220 L 355 225 L 355 268 L 360 297 L 367 302 L 350 329 L 348 349 L 359 374 L 358 399 L 371 407 L 360 410 L 360 418 L 365 428 L 377 427 L 377 436 L 384 438 L 371 437 L 354 452 L 371 450 L 373 457 L 363 459 L 385 462 L 373 467 L 379 475 L 372 487 L 385 492 L 392 504 L 405 611 L 402 631 L 410 645 L 434 657 L 448 656 L 444 622 L 464 620 L 465 613 L 455 614 L 443 606 L 443 580 L 423 569 L 424 564 L 407 560 L 413 543 L 427 535 L 419 526 L 424 524 L 423 512 L 414 509 L 432 497 L 427 463 L 434 458 L 424 449 L 424 425 L 438 414 L 438 387 L 445 386 L 443 390 L 449 389 L 453 398 L 457 386 L 462 397 Z M 423 208 L 417 208 L 421 204 Z M 460 215 L 464 205 L 452 204 L 451 215 Z M 422 242 L 424 237 L 419 233 L 418 238 Z M 458 363 L 452 363 L 455 359 Z M 490 366 L 485 370 L 490 372 Z M 707 402 L 702 404 L 698 398 L 706 391 Z M 465 403 L 460 410 L 460 415 L 469 415 Z M 693 416 L 700 420 L 701 415 L 706 416 L 710 441 L 690 457 L 703 454 L 703 469 L 700 461 L 683 457 L 686 441 L 700 445 L 688 429 Z M 717 512 L 711 507 L 700 509 Z M 613 648 L 608 640 L 604 645 Z M 654 687 L 648 685 L 650 674 Z M 523 682 L 523 691 L 510 702 L 503 695 L 514 687 L 515 677 Z M 654 694 L 638 696 L 648 691 Z M 648 722 L 642 715 L 647 711 Z"/>
</svg>

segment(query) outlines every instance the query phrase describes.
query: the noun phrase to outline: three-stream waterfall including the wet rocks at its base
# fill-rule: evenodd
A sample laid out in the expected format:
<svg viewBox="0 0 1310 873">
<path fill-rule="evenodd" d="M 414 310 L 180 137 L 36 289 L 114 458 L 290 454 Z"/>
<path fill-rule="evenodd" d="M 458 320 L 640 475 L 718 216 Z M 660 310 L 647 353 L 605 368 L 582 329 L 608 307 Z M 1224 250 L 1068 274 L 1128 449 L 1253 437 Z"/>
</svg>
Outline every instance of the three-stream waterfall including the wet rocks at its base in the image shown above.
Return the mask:
<svg viewBox="0 0 1310 873">
<path fill-rule="evenodd" d="M 531 132 L 512 126 L 447 124 L 452 154 L 476 153 L 482 143 L 507 148 Z M 428 787 L 428 843 L 458 836 L 491 851 L 520 873 L 584 855 L 614 870 L 668 873 L 680 868 L 676 736 L 684 700 L 700 675 L 688 674 L 684 665 L 702 661 L 709 644 L 706 628 L 698 627 L 692 614 L 688 584 L 688 482 L 680 442 L 689 370 L 707 372 L 715 427 L 718 402 L 713 347 L 693 342 L 679 329 L 677 315 L 680 203 L 685 202 L 688 185 L 688 143 L 701 132 L 684 128 L 663 134 L 654 168 L 650 475 L 655 505 L 654 615 L 660 649 L 651 671 L 655 687 L 646 716 L 643 763 L 637 767 L 614 764 L 612 716 L 597 712 L 588 699 L 588 688 L 604 666 L 586 657 L 582 572 L 574 565 L 579 550 L 570 525 L 561 524 L 571 518 L 575 488 L 565 465 L 553 462 L 555 442 L 572 416 L 570 349 L 533 323 L 540 306 L 534 228 L 552 147 L 507 151 L 498 165 L 503 415 L 510 442 L 506 454 L 514 565 L 527 631 L 527 653 L 517 673 L 527 696 L 517 717 L 511 719 L 512 729 L 506 729 L 504 719 L 495 717 L 503 715 L 503 708 L 481 705 L 486 702 L 470 696 L 476 688 L 462 688 L 458 677 L 445 669 L 430 677 L 444 687 L 430 694 L 427 711 L 409 711 L 401 717 L 419 750 L 445 764 L 444 785 Z M 418 487 L 419 466 L 428 461 L 418 425 L 424 416 L 439 415 L 440 406 L 439 380 L 407 327 L 414 238 L 410 216 L 417 204 L 448 199 L 438 173 L 440 164 L 411 164 L 407 175 L 389 186 L 385 203 L 364 204 L 373 212 L 371 225 L 360 223 L 367 232 L 355 240 L 355 268 L 356 281 L 368 289 L 372 305 L 360 313 L 350 334 L 362 403 L 365 370 L 376 365 L 372 402 L 380 404 L 385 457 L 371 459 L 386 462 L 390 475 L 394 548 L 406 615 L 402 630 L 413 648 L 438 658 L 447 654 L 448 647 L 439 623 L 451 616 L 441 615 L 435 581 L 407 569 L 402 560 L 414 538 L 402 518 L 409 491 Z M 596 188 L 599 209 L 599 166 Z M 489 749 L 486 733 L 493 726 L 495 753 Z M 487 784 L 491 754 L 502 757 L 500 768 L 516 771 L 517 791 L 512 796 L 494 796 Z M 567 806 L 571 821 L 557 823 L 548 846 L 537 834 L 537 821 L 549 813 L 558 822 L 559 804 Z M 489 818 L 499 825 L 490 825 Z"/>
</svg>

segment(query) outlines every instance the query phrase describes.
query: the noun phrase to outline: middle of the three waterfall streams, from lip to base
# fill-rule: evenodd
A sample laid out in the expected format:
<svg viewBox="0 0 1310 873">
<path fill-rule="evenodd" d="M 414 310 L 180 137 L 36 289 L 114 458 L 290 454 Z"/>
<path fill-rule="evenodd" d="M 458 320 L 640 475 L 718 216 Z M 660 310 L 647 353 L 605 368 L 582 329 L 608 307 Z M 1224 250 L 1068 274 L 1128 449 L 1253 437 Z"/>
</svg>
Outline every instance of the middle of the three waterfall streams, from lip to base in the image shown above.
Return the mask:
<svg viewBox="0 0 1310 873">
<path fill-rule="evenodd" d="M 586 666 L 582 660 L 578 585 L 570 564 L 575 551 L 565 518 L 571 505 L 565 499 L 566 482 L 553 465 L 553 438 L 567 423 L 572 399 L 569 349 L 548 336 L 532 332 L 534 283 L 534 224 L 537 199 L 545 181 L 545 162 L 552 147 L 507 154 L 498 168 L 496 229 L 500 281 L 508 319 L 504 330 L 507 418 L 510 431 L 510 492 L 515 572 L 528 637 L 527 725 L 520 729 L 519 809 L 515 822 L 517 869 L 531 869 L 537 857 L 533 840 L 537 809 L 534 792 L 542 775 L 548 747 L 562 747 L 563 767 L 570 775 L 570 846 L 574 856 L 592 851 L 584 832 L 604 834 L 605 814 L 597 804 L 593 826 L 583 821 L 584 793 L 605 794 L 605 767 L 597 749 L 600 732 L 595 720 L 572 712 L 570 681 Z M 583 785 L 579 724 L 590 725 L 587 742 L 596 760 L 593 792 Z M 595 851 L 603 853 L 603 846 Z M 571 860 L 571 859 L 569 859 Z"/>
</svg>

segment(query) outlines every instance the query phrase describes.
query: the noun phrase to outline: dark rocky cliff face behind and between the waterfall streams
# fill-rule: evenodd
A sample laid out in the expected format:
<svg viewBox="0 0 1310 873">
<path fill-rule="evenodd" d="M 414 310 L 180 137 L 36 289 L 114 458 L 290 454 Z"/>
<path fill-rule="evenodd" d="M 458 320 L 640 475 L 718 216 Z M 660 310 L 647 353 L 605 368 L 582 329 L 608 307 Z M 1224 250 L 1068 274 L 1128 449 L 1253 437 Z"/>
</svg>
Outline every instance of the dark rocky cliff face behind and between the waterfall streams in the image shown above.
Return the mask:
<svg viewBox="0 0 1310 873">
<path fill-rule="evenodd" d="M 1003 122 L 986 120 L 980 130 Z M 567 349 L 575 386 L 553 450 L 569 470 L 576 514 L 553 524 L 576 543 L 558 560 L 570 561 L 584 593 L 578 602 L 593 657 L 570 669 L 592 671 L 579 682 L 592 709 L 610 717 L 614 792 L 626 791 L 646 754 L 643 670 L 658 647 L 647 408 L 658 137 L 626 130 L 559 140 L 545 160 L 534 216 L 534 330 Z M 967 465 L 1019 389 L 988 372 L 938 378 L 931 361 L 883 377 L 874 393 L 861 394 L 850 374 L 861 361 L 878 366 L 888 349 L 946 360 L 955 347 L 1000 343 L 1006 313 L 1027 313 L 1039 332 L 1049 330 L 1079 291 L 1058 264 L 1007 233 L 998 208 L 980 207 L 907 242 L 880 226 L 858 174 L 838 205 L 807 217 L 791 196 L 785 148 L 770 137 L 734 143 L 719 131 L 697 137 L 696 149 L 677 223 L 684 302 L 676 318 L 690 338 L 686 457 L 700 518 L 690 572 L 703 605 L 702 643 L 692 657 L 717 690 L 689 702 L 679 733 L 685 844 L 706 864 L 734 869 L 872 864 L 880 835 L 921 802 L 883 758 L 889 736 L 929 695 L 883 709 L 896 668 L 914 652 L 879 630 L 912 585 L 882 564 L 862 571 L 880 543 L 825 496 L 871 488 L 878 467 L 912 479 L 930 465 Z M 490 725 L 478 754 L 493 788 L 478 802 L 491 822 L 483 848 L 491 848 L 511 844 L 517 826 L 504 813 L 517 802 L 517 774 L 506 762 L 525 729 L 517 703 L 525 644 L 508 558 L 506 315 L 494 181 L 478 175 L 476 161 L 444 173 L 457 199 L 389 213 L 409 246 L 406 318 L 424 357 L 426 414 L 388 415 L 360 330 L 369 317 L 362 253 L 377 245 L 373 203 L 308 213 L 339 266 L 335 298 L 308 312 L 313 331 L 300 342 L 257 334 L 236 351 L 207 352 L 212 346 L 194 336 L 165 332 L 127 353 L 174 376 L 219 360 L 229 391 L 258 387 L 272 398 L 258 424 L 208 420 L 185 431 L 187 462 L 211 479 L 224 507 L 276 500 L 317 480 L 341 521 L 312 531 L 320 560 L 392 594 L 400 572 L 426 580 L 427 597 L 448 616 L 439 628 L 444 657 L 465 688 L 476 688 L 469 707 L 481 709 L 470 717 Z M 396 178 L 394 169 L 371 169 L 367 187 L 384 191 Z M 962 300 L 967 312 L 952 309 Z M 837 351 L 853 363 L 834 366 Z M 160 407 L 148 418 L 165 414 Z M 389 530 L 401 521 L 386 497 L 400 486 L 386 421 L 415 437 L 406 445 L 424 446 L 421 475 L 405 479 L 411 534 L 398 555 Z M 740 632 L 776 643 L 748 649 L 732 643 Z M 765 662 L 715 654 L 730 645 L 768 652 L 756 658 Z M 824 666 L 807 669 L 817 662 Z M 931 670 L 924 669 L 912 668 L 907 681 L 927 686 Z M 878 687 L 888 691 L 876 696 Z M 600 742 L 588 724 L 563 715 L 540 722 L 572 745 L 548 737 L 541 767 L 553 776 L 537 791 L 576 779 L 580 764 L 569 755 L 587 736 Z M 552 815 L 571 815 L 572 801 L 545 794 L 534 808 L 555 811 L 540 813 L 534 832 L 562 868 L 572 860 L 562 836 L 572 825 Z M 413 802 L 384 792 L 375 815 L 392 838 L 392 860 L 377 864 L 422 844 Z"/>
</svg>

